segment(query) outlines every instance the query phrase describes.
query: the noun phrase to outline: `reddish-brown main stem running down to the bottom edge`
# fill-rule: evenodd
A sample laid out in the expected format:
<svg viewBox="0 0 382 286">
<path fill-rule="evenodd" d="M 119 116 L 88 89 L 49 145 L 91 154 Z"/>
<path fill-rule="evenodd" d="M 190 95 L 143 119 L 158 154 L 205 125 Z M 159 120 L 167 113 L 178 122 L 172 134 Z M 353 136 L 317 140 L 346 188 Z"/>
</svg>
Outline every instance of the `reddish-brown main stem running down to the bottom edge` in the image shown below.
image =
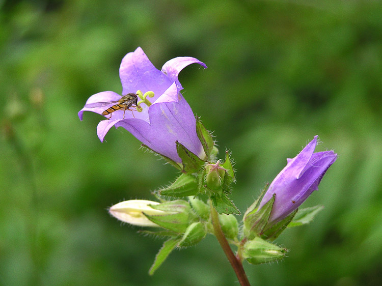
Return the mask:
<svg viewBox="0 0 382 286">
<path fill-rule="evenodd" d="M 212 206 L 212 202 L 209 202 L 210 208 L 211 208 L 211 218 L 212 218 L 212 225 L 213 230 L 215 233 L 215 236 L 217 238 L 217 241 L 219 241 L 220 246 L 223 248 L 224 253 L 226 254 L 228 261 L 230 262 L 233 270 L 235 271 L 235 274 L 237 278 L 239 279 L 241 286 L 251 286 L 250 282 L 248 281 L 247 275 L 245 274 L 243 265 L 241 264 L 241 261 L 238 260 L 233 253 L 223 231 L 222 227 L 219 222 L 219 216 L 217 215 L 216 210 Z"/>
</svg>

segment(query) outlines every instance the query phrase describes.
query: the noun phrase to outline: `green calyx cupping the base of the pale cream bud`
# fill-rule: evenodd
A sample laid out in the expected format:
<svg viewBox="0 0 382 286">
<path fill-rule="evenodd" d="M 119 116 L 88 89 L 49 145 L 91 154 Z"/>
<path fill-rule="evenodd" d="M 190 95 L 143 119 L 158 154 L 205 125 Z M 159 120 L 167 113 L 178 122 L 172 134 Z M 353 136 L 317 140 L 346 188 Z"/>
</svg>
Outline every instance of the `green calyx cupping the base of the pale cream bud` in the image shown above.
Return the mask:
<svg viewBox="0 0 382 286">
<path fill-rule="evenodd" d="M 184 233 L 195 216 L 188 202 L 182 199 L 160 203 L 159 205 L 150 205 L 150 207 L 168 213 L 152 216 L 144 213 L 144 215 L 152 222 L 175 233 Z"/>
</svg>

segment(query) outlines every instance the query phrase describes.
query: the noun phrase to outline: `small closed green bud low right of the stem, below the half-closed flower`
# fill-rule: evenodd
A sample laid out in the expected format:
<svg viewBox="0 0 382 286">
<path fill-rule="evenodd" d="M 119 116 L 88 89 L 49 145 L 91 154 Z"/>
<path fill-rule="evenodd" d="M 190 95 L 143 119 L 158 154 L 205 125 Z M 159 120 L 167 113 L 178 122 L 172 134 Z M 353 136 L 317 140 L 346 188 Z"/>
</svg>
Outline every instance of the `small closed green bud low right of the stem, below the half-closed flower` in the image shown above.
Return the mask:
<svg viewBox="0 0 382 286">
<path fill-rule="evenodd" d="M 247 241 L 242 248 L 242 256 L 251 264 L 261 264 L 282 259 L 287 250 L 259 237 Z"/>
</svg>

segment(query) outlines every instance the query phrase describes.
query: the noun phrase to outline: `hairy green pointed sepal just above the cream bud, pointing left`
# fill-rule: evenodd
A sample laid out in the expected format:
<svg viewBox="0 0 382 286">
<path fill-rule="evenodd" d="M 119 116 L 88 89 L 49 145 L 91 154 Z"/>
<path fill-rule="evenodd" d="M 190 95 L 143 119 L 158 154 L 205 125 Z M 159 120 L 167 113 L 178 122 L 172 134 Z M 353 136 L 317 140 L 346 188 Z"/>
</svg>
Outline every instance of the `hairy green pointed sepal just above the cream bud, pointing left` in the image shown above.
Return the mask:
<svg viewBox="0 0 382 286">
<path fill-rule="evenodd" d="M 169 187 L 158 190 L 160 195 L 183 197 L 196 195 L 198 193 L 198 183 L 195 176 L 181 174 Z"/>
</svg>

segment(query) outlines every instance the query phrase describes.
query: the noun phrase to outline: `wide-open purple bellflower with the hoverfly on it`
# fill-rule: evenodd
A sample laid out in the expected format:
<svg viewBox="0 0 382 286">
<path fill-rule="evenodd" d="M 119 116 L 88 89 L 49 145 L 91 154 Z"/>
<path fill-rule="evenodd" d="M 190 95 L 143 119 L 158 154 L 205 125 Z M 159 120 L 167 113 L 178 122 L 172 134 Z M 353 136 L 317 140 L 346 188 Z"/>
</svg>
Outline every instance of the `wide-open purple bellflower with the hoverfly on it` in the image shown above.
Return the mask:
<svg viewBox="0 0 382 286">
<path fill-rule="evenodd" d="M 187 56 L 174 58 L 157 70 L 142 48 L 126 54 L 119 69 L 122 95 L 137 94 L 138 106 L 130 104 L 128 110 L 122 108 L 113 110 L 107 117 L 105 115 L 108 120 L 101 121 L 97 126 L 101 142 L 112 126 L 121 126 L 151 150 L 177 163 L 181 163 L 181 159 L 176 151 L 176 141 L 205 159 L 196 133 L 194 113 L 180 94 L 183 88 L 178 80 L 179 72 L 194 63 L 207 68 L 204 63 Z M 82 120 L 84 111 L 102 115 L 105 109 L 118 104 L 120 99 L 121 95 L 112 91 L 94 94 L 78 112 L 78 117 Z M 109 102 L 108 106 L 105 102 Z"/>
</svg>

